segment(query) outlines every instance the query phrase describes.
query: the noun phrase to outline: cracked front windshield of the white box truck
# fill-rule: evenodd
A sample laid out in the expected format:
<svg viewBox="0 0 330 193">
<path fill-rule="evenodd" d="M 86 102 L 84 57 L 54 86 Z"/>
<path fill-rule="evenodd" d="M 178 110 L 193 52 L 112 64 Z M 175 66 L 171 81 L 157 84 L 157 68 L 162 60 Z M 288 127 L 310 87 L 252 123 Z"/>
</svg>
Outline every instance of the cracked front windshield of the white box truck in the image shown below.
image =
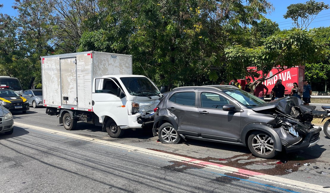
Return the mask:
<svg viewBox="0 0 330 193">
<path fill-rule="evenodd" d="M 122 77 L 120 80 L 130 95 L 141 97 L 160 96 L 159 90 L 146 77 Z"/>
</svg>

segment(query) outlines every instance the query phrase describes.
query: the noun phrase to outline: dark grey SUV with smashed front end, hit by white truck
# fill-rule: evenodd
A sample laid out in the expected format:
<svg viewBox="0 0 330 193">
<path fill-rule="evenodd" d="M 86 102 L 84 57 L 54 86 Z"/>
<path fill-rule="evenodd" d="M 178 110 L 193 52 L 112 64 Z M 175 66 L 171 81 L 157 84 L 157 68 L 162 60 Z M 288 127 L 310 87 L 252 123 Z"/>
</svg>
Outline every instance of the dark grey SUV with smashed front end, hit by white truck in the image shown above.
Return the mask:
<svg viewBox="0 0 330 193">
<path fill-rule="evenodd" d="M 180 87 L 163 93 L 154 109 L 153 134 L 162 143 L 198 139 L 247 146 L 253 155 L 272 158 L 319 141 L 312 111 L 297 97 L 266 103 L 230 86 Z"/>
</svg>

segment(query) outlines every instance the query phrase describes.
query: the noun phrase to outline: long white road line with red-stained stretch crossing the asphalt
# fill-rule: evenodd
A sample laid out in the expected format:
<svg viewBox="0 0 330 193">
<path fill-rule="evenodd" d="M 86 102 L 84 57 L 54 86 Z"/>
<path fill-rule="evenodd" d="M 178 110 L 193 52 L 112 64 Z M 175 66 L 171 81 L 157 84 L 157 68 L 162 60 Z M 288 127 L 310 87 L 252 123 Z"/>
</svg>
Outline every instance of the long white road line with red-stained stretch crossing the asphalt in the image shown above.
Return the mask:
<svg viewBox="0 0 330 193">
<path fill-rule="evenodd" d="M 85 137 L 85 136 L 67 133 L 67 132 L 63 132 L 63 131 L 56 131 L 53 129 L 38 127 L 38 126 L 34 126 L 34 125 L 28 125 L 28 124 L 22 124 L 22 123 L 15 123 L 15 125 L 20 126 L 20 127 L 27 127 L 27 128 L 31 128 L 31 129 L 46 131 L 46 132 L 49 132 L 52 134 L 68 136 L 68 137 L 85 140 L 85 141 L 89 141 L 89 142 L 94 142 L 94 143 L 98 143 L 98 144 L 102 144 L 102 145 L 108 145 L 111 147 L 116 147 L 116 148 L 124 149 L 127 151 L 135 151 L 135 152 L 140 152 L 140 153 L 144 153 L 144 154 L 148 154 L 148 155 L 152 155 L 152 156 L 158 156 L 158 157 L 162 157 L 162 158 L 166 158 L 166 159 L 170 159 L 170 160 L 180 161 L 183 163 L 199 165 L 202 167 L 220 171 L 222 173 L 229 172 L 229 173 L 233 173 L 233 174 L 237 174 L 237 175 L 241 175 L 241 176 L 247 176 L 252 179 L 257 179 L 257 180 L 270 182 L 270 183 L 274 183 L 274 184 L 280 184 L 280 185 L 287 186 L 287 187 L 290 187 L 293 189 L 301 189 L 301 190 L 312 191 L 312 192 L 330 192 L 329 188 L 323 188 L 320 185 L 310 184 L 310 183 L 296 181 L 296 180 L 292 180 L 292 179 L 286 179 L 286 178 L 281 178 L 281 177 L 277 177 L 277 176 L 266 175 L 266 174 L 262 174 L 262 173 L 258 173 L 258 172 L 249 171 L 249 170 L 234 168 L 234 167 L 225 166 L 225 165 L 221 165 L 221 164 L 215 164 L 215 163 L 206 162 L 206 161 L 197 160 L 197 159 L 191 159 L 188 157 L 173 155 L 173 154 L 169 154 L 169 153 L 165 153 L 165 152 L 157 152 L 157 151 L 134 147 L 134 146 L 130 146 L 130 145 L 114 143 L 114 142 L 105 141 L 105 140 L 101 140 L 101 139 Z"/>
</svg>

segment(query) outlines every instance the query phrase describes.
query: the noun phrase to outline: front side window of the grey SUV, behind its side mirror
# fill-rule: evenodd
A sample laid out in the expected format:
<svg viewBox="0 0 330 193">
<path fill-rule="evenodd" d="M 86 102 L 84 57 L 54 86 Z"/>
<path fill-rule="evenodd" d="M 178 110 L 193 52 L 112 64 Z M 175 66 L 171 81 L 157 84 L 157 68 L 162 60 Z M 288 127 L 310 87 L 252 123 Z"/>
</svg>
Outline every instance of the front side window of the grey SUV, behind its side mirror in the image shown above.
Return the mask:
<svg viewBox="0 0 330 193">
<path fill-rule="evenodd" d="M 201 93 L 201 104 L 204 108 L 222 109 L 229 100 L 215 93 Z"/>
</svg>

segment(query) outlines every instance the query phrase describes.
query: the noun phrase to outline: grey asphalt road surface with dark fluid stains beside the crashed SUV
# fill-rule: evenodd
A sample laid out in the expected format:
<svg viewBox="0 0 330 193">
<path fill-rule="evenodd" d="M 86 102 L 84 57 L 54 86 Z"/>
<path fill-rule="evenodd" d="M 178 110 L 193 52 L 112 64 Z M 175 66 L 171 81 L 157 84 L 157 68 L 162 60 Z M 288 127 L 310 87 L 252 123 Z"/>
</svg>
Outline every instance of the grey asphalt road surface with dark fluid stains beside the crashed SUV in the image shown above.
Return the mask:
<svg viewBox="0 0 330 193">
<path fill-rule="evenodd" d="M 310 192 L 144 150 L 271 175 L 283 183 L 296 180 L 330 186 L 330 139 L 323 132 L 314 147 L 266 160 L 241 146 L 194 140 L 162 144 L 150 130 L 127 130 L 120 139 L 85 123 L 66 131 L 56 116 L 45 114 L 45 108 L 13 114 L 17 125 L 39 126 L 51 132 L 15 126 L 12 135 L 0 135 L 0 192 Z M 132 148 L 123 149 L 120 144 Z M 323 190 L 330 192 L 330 188 Z"/>
</svg>

